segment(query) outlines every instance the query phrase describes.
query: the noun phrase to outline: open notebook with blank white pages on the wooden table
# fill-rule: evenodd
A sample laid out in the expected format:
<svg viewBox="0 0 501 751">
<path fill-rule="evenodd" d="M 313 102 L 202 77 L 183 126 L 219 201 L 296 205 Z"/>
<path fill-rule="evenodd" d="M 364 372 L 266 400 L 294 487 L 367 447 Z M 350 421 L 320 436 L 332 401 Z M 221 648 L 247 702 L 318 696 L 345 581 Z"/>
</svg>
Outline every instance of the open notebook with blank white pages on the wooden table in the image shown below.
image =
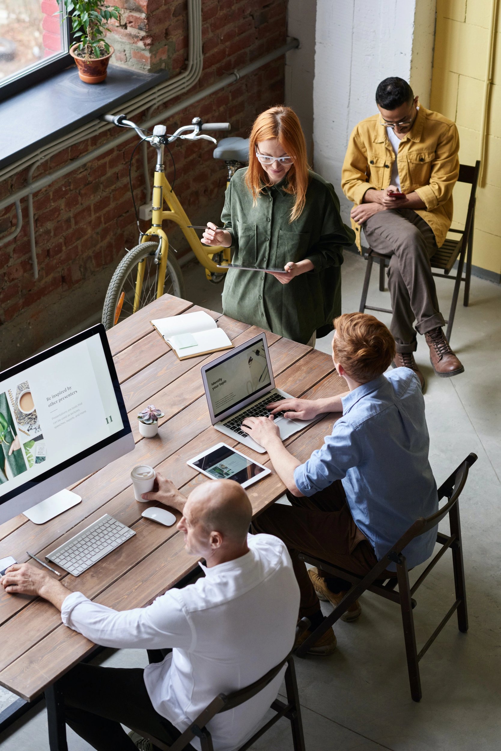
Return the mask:
<svg viewBox="0 0 501 751">
<path fill-rule="evenodd" d="M 225 331 L 203 310 L 149 321 L 180 360 L 230 349 L 234 345 Z"/>
</svg>

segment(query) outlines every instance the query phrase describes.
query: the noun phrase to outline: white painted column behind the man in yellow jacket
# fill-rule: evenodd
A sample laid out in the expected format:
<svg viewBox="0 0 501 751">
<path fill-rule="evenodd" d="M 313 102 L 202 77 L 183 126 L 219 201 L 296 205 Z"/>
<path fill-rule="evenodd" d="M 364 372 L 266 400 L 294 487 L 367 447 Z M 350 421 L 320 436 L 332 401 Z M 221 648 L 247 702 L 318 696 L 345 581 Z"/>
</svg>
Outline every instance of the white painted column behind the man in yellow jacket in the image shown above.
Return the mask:
<svg viewBox="0 0 501 751">
<path fill-rule="evenodd" d="M 435 5 L 436 0 L 317 0 L 315 171 L 333 183 L 345 221 L 352 206 L 340 189 L 346 146 L 357 122 L 376 113 L 379 82 L 404 78 L 424 106 L 429 104 Z"/>
</svg>

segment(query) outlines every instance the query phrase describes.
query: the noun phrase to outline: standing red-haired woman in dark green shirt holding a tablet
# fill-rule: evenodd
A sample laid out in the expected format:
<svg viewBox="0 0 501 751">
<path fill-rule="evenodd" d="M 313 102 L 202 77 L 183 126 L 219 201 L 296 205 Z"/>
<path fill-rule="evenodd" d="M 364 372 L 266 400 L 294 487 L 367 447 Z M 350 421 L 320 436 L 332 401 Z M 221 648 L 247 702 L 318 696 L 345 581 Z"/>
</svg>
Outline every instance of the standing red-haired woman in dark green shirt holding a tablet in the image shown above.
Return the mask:
<svg viewBox="0 0 501 751">
<path fill-rule="evenodd" d="M 207 223 L 205 245 L 234 249 L 232 262 L 281 273 L 230 269 L 225 315 L 303 344 L 326 336 L 341 312 L 343 246 L 355 233 L 330 182 L 308 169 L 306 142 L 290 107 L 271 107 L 252 126 L 249 167 L 226 191 L 224 229 Z"/>
</svg>

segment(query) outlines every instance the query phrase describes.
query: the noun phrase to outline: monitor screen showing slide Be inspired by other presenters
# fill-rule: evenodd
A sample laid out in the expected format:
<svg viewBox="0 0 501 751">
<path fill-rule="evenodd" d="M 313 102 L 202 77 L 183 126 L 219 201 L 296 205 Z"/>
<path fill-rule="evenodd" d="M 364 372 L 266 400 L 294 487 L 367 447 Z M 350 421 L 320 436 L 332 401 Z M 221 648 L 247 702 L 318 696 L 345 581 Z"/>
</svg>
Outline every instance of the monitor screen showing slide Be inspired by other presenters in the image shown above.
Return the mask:
<svg viewBox="0 0 501 751">
<path fill-rule="evenodd" d="M 0 382 L 0 497 L 122 428 L 98 334 Z"/>
</svg>

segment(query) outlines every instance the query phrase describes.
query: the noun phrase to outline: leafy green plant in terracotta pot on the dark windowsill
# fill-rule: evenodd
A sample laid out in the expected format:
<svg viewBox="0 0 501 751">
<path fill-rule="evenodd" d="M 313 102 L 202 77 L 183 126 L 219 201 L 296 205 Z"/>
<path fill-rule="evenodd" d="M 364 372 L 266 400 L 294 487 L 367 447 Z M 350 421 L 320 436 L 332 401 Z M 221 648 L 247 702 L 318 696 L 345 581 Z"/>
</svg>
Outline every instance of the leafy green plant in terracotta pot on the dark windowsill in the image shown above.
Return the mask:
<svg viewBox="0 0 501 751">
<path fill-rule="evenodd" d="M 62 22 L 68 17 L 71 32 L 78 41 L 70 48 L 70 55 L 85 83 L 101 83 L 107 76 L 113 47 L 104 39 L 104 29 L 113 18 L 119 20 L 120 9 L 104 0 L 58 0 Z"/>
</svg>

